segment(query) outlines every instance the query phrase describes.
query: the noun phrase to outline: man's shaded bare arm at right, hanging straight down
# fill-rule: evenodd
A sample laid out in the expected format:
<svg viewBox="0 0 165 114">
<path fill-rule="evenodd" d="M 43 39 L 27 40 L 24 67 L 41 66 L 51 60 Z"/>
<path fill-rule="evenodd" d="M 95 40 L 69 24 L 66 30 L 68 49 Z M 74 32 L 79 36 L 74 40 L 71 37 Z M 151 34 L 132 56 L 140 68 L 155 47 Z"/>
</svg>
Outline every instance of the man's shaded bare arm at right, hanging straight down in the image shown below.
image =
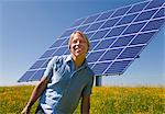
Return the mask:
<svg viewBox="0 0 165 114">
<path fill-rule="evenodd" d="M 80 109 L 81 109 L 81 114 L 89 114 L 90 95 L 82 95 Z"/>
</svg>

